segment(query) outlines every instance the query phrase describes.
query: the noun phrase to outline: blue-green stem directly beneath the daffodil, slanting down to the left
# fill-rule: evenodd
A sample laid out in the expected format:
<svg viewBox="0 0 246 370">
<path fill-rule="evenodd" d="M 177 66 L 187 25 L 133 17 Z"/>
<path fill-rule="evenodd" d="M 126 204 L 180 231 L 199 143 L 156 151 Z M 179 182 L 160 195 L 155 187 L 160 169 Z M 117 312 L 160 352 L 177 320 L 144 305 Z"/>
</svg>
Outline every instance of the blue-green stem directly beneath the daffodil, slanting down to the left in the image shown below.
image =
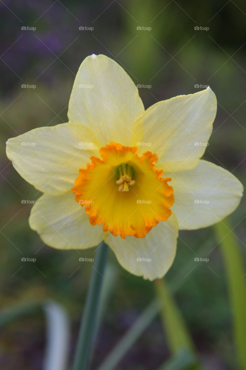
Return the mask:
<svg viewBox="0 0 246 370">
<path fill-rule="evenodd" d="M 87 370 L 96 336 L 96 323 L 99 313 L 99 300 L 104 270 L 107 261 L 108 246 L 102 242 L 96 252 L 92 269 L 85 310 L 82 316 L 77 348 L 72 370 Z"/>
</svg>

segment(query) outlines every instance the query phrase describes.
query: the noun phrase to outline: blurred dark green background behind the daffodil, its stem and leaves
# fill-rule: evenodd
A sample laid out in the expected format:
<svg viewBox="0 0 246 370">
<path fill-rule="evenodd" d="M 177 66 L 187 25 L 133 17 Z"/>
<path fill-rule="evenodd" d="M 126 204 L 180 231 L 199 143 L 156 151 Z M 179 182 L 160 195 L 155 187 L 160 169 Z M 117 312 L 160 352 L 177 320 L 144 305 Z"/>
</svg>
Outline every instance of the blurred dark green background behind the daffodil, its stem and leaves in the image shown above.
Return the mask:
<svg viewBox="0 0 246 370">
<path fill-rule="evenodd" d="M 102 53 L 122 65 L 134 83 L 151 85 L 139 88 L 145 108 L 210 85 L 218 99 L 218 113 L 204 158 L 233 172 L 244 184 L 246 5 L 242 0 L 5 0 L 0 9 L 1 307 L 42 299 L 61 303 L 71 318 L 72 357 L 92 265 L 81 265 L 74 250 L 43 245 L 31 231 L 31 204 L 21 200 L 36 200 L 41 193 L 13 169 L 4 143 L 30 129 L 67 122 L 79 65 L 86 56 Z M 22 88 L 22 84 L 36 87 Z M 244 213 L 242 199 L 229 219 L 245 260 Z M 166 279 L 180 282 L 175 299 L 204 369 L 239 369 L 225 269 L 217 244 L 212 227 L 180 232 L 177 256 Z M 195 254 L 202 246 L 212 252 Z M 85 250 L 83 255 L 91 258 L 93 252 Z M 37 260 L 22 262 L 23 256 Z M 209 258 L 209 262 L 195 263 L 196 256 Z M 129 275 L 111 252 L 109 261 L 117 280 L 100 327 L 92 369 L 155 295 L 153 283 Z M 44 316 L 33 314 L 4 327 L 0 343 L 1 369 L 41 370 Z M 155 370 L 168 357 L 165 332 L 157 317 L 117 369 Z"/>
</svg>

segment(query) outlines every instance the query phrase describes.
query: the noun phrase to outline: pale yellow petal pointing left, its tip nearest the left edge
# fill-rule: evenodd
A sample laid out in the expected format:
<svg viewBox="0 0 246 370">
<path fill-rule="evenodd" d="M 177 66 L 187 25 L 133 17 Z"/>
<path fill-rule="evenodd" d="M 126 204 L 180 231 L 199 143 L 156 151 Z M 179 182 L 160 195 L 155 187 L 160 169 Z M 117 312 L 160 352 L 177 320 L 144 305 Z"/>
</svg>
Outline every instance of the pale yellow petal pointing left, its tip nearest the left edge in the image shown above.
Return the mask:
<svg viewBox="0 0 246 370">
<path fill-rule="evenodd" d="M 91 155 L 98 155 L 95 134 L 78 123 L 35 128 L 8 139 L 6 153 L 17 172 L 48 194 L 68 192 Z"/>
</svg>

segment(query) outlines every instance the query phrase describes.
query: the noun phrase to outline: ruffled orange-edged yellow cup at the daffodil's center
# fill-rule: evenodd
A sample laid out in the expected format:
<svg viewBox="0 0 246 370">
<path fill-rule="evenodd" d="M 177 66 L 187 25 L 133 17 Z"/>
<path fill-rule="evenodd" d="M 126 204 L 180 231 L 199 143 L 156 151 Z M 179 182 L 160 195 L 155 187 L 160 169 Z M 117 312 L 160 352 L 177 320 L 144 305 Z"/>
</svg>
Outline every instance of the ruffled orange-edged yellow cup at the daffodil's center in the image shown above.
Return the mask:
<svg viewBox="0 0 246 370">
<path fill-rule="evenodd" d="M 137 147 L 110 142 L 100 148 L 100 156 L 79 169 L 72 192 L 85 206 L 91 225 L 101 225 L 113 235 L 144 238 L 159 221 L 171 215 L 174 203 L 170 178 L 161 178 L 155 169 L 156 154 L 137 155 Z M 117 186 L 119 185 L 119 186 Z"/>
</svg>

